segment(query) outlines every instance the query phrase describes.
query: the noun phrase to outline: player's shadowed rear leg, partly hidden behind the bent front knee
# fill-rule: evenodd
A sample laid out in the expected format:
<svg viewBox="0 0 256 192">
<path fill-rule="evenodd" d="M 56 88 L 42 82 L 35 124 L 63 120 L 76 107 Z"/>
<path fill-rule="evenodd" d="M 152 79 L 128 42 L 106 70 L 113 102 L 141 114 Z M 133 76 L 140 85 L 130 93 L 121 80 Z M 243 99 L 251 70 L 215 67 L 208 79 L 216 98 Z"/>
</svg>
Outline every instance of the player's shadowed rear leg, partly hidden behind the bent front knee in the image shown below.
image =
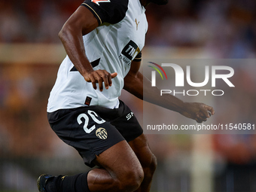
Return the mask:
<svg viewBox="0 0 256 192">
<path fill-rule="evenodd" d="M 138 157 L 144 172 L 144 179 L 136 192 L 149 192 L 151 181 L 155 169 L 157 168 L 157 158 L 152 154 L 148 140 L 144 134 L 129 142 L 129 145 Z"/>
</svg>

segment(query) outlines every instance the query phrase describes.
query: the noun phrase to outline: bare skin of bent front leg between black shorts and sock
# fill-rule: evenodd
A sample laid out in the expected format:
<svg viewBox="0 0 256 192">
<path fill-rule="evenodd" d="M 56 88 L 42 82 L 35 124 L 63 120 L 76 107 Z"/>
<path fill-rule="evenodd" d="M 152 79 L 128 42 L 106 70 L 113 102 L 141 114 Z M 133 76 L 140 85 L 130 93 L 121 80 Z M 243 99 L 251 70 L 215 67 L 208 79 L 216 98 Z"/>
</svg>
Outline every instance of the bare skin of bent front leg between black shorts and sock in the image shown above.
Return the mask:
<svg viewBox="0 0 256 192">
<path fill-rule="evenodd" d="M 103 169 L 88 173 L 87 182 L 93 191 L 134 191 L 144 178 L 142 166 L 126 141 L 117 143 L 96 157 Z"/>
</svg>

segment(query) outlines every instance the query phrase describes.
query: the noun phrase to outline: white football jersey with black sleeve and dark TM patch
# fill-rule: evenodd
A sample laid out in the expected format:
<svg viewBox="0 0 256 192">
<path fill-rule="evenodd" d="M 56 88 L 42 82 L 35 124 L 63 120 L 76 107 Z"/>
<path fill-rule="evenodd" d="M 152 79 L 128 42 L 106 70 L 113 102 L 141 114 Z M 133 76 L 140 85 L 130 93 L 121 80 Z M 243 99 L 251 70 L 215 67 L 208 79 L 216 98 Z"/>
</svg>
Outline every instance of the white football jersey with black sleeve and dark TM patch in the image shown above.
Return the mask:
<svg viewBox="0 0 256 192">
<path fill-rule="evenodd" d="M 123 78 L 132 60 L 141 56 L 145 44 L 148 23 L 139 0 L 86 0 L 82 6 L 99 22 L 96 29 L 83 37 L 87 58 L 94 70 L 117 72 L 117 77 L 112 79 L 108 90 L 104 87 L 101 92 L 99 86 L 94 90 L 66 56 L 50 92 L 47 112 L 87 105 L 118 108 Z"/>
</svg>

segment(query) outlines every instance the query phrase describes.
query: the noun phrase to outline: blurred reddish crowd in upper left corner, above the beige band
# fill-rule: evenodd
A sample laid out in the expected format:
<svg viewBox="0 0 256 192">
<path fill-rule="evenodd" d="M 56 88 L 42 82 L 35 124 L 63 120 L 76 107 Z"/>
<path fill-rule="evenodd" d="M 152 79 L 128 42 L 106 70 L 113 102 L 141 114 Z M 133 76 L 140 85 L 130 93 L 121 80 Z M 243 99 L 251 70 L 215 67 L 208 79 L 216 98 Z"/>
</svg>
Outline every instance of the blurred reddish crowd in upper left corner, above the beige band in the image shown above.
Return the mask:
<svg viewBox="0 0 256 192">
<path fill-rule="evenodd" d="M 1 1 L 0 41 L 5 43 L 56 43 L 62 25 L 81 4 L 64 1 Z"/>
</svg>

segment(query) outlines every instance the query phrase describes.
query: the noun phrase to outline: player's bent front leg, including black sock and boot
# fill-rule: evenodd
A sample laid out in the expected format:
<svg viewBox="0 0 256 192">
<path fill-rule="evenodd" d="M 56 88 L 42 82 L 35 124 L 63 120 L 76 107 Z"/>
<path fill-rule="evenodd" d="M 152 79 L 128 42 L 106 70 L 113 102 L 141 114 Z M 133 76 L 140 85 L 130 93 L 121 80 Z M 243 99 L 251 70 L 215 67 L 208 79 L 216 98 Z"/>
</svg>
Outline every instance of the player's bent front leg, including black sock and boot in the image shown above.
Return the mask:
<svg viewBox="0 0 256 192">
<path fill-rule="evenodd" d="M 102 168 L 72 176 L 44 177 L 38 180 L 41 192 L 133 192 L 142 184 L 142 166 L 126 141 L 118 142 L 93 161 Z"/>
</svg>

